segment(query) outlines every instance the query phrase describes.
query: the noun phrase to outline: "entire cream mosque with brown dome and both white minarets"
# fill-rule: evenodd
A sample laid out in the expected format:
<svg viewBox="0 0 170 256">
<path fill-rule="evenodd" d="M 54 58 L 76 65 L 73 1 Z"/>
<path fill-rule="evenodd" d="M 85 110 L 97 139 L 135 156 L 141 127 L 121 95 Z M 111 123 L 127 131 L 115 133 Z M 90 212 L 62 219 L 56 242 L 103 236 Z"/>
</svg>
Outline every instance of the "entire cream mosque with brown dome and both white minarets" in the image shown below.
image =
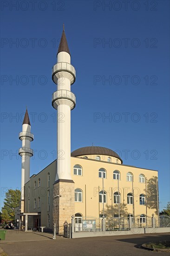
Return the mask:
<svg viewBox="0 0 170 256">
<path fill-rule="evenodd" d="M 82 230 L 83 219 L 128 218 L 158 214 L 158 172 L 123 164 L 119 155 L 109 148 L 89 146 L 71 153 L 71 110 L 76 97 L 71 92 L 76 71 L 71 64 L 71 54 L 65 30 L 57 53 L 57 63 L 52 68 L 52 80 L 57 91 L 52 94 L 52 107 L 57 116 L 64 114 L 65 121 L 57 121 L 57 160 L 38 174 L 30 177 L 30 157 L 33 149 L 28 111 L 24 117 L 19 138 L 22 147 L 21 201 L 15 209 L 15 219 L 20 229 L 53 230 L 57 233 L 65 221 L 75 217 L 77 230 Z"/>
</svg>

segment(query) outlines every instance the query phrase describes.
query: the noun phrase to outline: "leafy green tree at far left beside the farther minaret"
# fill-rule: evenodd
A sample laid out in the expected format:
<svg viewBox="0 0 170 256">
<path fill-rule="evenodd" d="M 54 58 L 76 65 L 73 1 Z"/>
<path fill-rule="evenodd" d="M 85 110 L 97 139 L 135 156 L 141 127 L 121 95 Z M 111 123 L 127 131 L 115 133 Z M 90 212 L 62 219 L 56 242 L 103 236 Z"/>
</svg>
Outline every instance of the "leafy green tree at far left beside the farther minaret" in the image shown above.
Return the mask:
<svg viewBox="0 0 170 256">
<path fill-rule="evenodd" d="M 2 220 L 15 221 L 15 207 L 20 203 L 20 190 L 8 189 L 4 199 L 4 206 L 2 207 Z"/>
</svg>

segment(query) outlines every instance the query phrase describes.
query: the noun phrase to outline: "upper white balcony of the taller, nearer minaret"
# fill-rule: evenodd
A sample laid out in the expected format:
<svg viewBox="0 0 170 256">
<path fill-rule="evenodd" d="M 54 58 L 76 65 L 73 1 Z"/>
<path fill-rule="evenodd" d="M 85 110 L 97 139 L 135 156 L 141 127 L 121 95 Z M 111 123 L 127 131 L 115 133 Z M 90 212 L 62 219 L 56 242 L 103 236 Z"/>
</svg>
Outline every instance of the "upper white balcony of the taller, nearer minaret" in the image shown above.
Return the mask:
<svg viewBox="0 0 170 256">
<path fill-rule="evenodd" d="M 69 64 L 67 62 L 59 62 L 52 67 L 52 80 L 56 84 L 57 84 L 57 81 L 59 78 L 59 75 L 58 75 L 59 72 L 67 72 L 68 73 L 67 78 L 70 80 L 71 85 L 75 82 L 76 70 L 71 64 Z M 63 75 L 63 77 L 65 77 L 65 76 Z"/>
</svg>

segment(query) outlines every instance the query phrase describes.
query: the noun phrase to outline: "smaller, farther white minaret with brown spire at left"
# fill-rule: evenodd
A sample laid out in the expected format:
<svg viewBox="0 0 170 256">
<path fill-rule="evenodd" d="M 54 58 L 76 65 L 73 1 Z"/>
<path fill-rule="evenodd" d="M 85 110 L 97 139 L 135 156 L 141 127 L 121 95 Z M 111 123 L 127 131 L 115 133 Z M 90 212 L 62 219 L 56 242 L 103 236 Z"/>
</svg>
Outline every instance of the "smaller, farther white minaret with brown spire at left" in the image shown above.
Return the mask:
<svg viewBox="0 0 170 256">
<path fill-rule="evenodd" d="M 20 209 L 21 212 L 24 212 L 24 185 L 30 180 L 30 157 L 33 156 L 33 149 L 30 148 L 30 141 L 33 141 L 33 134 L 31 133 L 31 124 L 27 109 L 19 139 L 22 141 L 22 148 L 19 149 L 19 155 L 22 157 Z"/>
</svg>

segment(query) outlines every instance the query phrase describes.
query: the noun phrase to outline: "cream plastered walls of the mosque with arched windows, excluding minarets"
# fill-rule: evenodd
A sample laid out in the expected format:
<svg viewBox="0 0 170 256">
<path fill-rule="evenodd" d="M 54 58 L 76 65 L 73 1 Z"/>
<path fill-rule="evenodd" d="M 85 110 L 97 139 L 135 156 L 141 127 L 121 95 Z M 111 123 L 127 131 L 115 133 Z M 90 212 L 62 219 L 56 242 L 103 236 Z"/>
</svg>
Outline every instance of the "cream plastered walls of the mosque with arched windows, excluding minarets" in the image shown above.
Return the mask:
<svg viewBox="0 0 170 256">
<path fill-rule="evenodd" d="M 88 158 L 84 158 L 85 156 Z M 98 156 L 100 156 L 101 160 L 95 159 Z M 108 162 L 110 161 L 110 157 L 109 155 L 71 157 L 75 210 L 74 212 L 70 212 L 68 222 L 71 222 L 72 215 L 81 215 L 80 218 L 82 220 L 88 216 L 94 216 L 96 218 L 102 217 L 103 199 L 106 218 L 118 217 L 118 213 L 122 218 L 127 218 L 129 214 L 133 216 L 143 214 L 147 216 L 151 216 L 152 214 L 157 215 L 158 172 L 115 163 L 115 160 L 117 160 L 115 157 L 111 157 L 111 162 Z M 46 229 L 52 231 L 53 200 L 56 200 L 56 198 L 53 199 L 56 162 L 57 161 L 52 162 L 37 175 L 31 176 L 30 181 L 25 184 L 25 212 L 39 213 L 39 216 L 28 216 L 28 229 L 45 226 Z M 77 166 L 79 167 L 77 168 Z M 99 177 L 101 176 L 100 174 L 103 173 L 103 170 L 105 170 L 104 179 Z M 119 177 L 117 173 L 113 177 L 114 171 L 119 172 Z M 127 175 L 128 173 L 132 176 Z M 143 175 L 142 179 L 140 175 Z M 103 181 L 104 197 L 102 194 L 99 195 L 100 192 L 103 192 Z M 76 189 L 81 190 L 81 192 L 76 192 Z M 114 195 L 114 193 L 118 193 L 118 191 L 120 201 L 118 196 Z M 128 196 L 129 193 L 132 195 Z M 65 183 L 60 186 L 58 194 L 61 198 L 65 198 Z M 79 198 L 77 194 L 80 194 Z M 144 195 L 144 197 L 140 195 Z M 67 210 L 67 206 L 63 205 L 63 209 Z"/>
</svg>

